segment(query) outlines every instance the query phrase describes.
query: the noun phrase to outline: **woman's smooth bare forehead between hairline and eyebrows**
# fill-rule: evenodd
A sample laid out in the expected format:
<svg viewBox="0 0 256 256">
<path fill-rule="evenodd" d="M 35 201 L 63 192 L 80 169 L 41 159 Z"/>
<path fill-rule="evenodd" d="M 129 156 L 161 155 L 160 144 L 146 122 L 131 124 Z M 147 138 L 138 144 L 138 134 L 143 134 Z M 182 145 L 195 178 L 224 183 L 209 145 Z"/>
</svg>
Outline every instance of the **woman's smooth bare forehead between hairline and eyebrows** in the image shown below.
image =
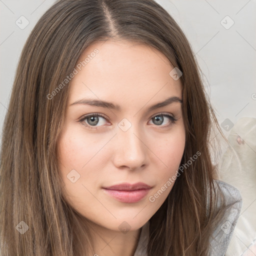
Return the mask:
<svg viewBox="0 0 256 256">
<path fill-rule="evenodd" d="M 128 41 L 98 41 L 80 55 L 70 81 L 69 103 L 82 97 L 122 102 L 181 97 L 168 58 L 157 49 Z M 118 101 L 118 102 L 117 102 Z"/>
</svg>

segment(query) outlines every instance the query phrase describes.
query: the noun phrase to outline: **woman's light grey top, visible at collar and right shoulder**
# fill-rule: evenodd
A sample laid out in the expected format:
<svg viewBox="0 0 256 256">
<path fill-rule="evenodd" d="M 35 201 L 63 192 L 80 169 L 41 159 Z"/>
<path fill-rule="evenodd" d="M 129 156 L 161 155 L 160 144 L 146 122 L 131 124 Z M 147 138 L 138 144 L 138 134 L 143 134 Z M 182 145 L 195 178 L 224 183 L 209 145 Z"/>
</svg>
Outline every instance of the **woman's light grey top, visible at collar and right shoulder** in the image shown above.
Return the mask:
<svg viewBox="0 0 256 256">
<path fill-rule="evenodd" d="M 233 234 L 234 226 L 239 217 L 242 205 L 242 198 L 240 192 L 235 187 L 220 181 L 214 180 L 218 183 L 226 200 L 226 211 L 222 217 L 221 223 L 213 231 L 213 239 L 210 241 L 210 256 L 224 256 L 227 246 Z M 218 200 L 220 202 L 220 200 Z M 219 205 L 219 204 L 218 204 Z M 141 229 L 138 240 L 138 245 L 134 256 L 147 256 L 146 246 L 149 236 L 149 221 L 147 221 Z"/>
</svg>

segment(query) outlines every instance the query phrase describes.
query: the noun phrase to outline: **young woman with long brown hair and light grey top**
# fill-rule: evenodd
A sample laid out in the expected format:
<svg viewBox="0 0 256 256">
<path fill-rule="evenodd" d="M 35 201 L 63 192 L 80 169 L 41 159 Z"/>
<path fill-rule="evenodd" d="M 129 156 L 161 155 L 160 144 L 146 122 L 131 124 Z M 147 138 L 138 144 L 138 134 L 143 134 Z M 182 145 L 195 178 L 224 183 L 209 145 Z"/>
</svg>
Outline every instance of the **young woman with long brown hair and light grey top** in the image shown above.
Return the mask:
<svg viewBox="0 0 256 256">
<path fill-rule="evenodd" d="M 241 198 L 213 179 L 211 119 L 160 5 L 56 2 L 24 45 L 5 118 L 1 255 L 224 255 Z"/>
</svg>

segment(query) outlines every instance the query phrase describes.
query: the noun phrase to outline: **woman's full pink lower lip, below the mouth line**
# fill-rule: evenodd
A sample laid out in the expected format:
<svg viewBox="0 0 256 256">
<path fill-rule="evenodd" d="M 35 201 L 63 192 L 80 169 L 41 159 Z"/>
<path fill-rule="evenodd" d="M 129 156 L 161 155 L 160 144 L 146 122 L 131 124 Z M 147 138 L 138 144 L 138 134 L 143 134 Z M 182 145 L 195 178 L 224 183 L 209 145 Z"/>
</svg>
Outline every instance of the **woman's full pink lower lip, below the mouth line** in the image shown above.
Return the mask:
<svg viewBox="0 0 256 256">
<path fill-rule="evenodd" d="M 123 190 L 111 190 L 104 188 L 104 191 L 121 202 L 138 202 L 146 194 L 150 189 L 139 189 L 139 190 L 131 190 L 131 191 L 123 191 Z"/>
</svg>

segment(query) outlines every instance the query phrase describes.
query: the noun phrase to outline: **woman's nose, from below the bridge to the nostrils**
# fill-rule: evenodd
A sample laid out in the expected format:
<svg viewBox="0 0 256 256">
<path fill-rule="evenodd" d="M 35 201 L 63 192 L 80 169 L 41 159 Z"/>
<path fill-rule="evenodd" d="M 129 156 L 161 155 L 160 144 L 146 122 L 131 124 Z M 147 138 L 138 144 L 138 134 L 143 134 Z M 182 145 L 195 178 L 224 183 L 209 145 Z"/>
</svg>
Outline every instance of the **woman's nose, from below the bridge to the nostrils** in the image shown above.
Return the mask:
<svg viewBox="0 0 256 256">
<path fill-rule="evenodd" d="M 113 163 L 117 168 L 139 169 L 148 164 L 148 148 L 144 136 L 135 125 L 127 131 L 117 129 Z"/>
</svg>

